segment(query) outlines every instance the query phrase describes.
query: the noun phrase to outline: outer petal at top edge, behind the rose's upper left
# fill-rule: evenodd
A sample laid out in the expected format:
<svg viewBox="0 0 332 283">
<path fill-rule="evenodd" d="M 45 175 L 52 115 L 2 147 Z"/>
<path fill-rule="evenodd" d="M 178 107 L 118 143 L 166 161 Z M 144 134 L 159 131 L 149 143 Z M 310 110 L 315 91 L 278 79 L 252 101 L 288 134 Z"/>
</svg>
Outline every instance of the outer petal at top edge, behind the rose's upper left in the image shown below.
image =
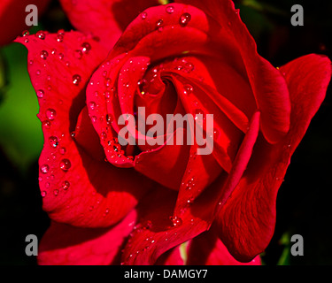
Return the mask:
<svg viewBox="0 0 332 283">
<path fill-rule="evenodd" d="M 83 33 L 92 32 L 112 48 L 123 30 L 137 15 L 158 0 L 60 0 L 73 24 Z"/>
</svg>

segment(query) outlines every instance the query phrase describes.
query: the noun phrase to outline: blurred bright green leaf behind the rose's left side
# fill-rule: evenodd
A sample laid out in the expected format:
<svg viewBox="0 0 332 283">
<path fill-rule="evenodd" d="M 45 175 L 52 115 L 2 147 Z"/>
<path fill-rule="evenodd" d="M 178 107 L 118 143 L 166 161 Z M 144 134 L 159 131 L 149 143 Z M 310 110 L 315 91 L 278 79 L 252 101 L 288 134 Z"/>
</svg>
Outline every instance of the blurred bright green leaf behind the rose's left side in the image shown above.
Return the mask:
<svg viewBox="0 0 332 283">
<path fill-rule="evenodd" d="M 5 77 L 9 84 L 0 105 L 0 146 L 12 163 L 26 172 L 42 149 L 37 97 L 27 73 L 26 48 L 12 43 L 1 52 L 8 66 Z"/>
</svg>

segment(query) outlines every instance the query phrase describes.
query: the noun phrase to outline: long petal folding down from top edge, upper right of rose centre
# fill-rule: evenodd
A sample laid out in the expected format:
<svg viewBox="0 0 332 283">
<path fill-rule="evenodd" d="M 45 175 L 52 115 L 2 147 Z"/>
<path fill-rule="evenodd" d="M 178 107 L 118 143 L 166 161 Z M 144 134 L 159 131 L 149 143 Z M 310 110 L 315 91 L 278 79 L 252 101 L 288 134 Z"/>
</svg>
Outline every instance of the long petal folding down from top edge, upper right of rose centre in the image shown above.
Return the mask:
<svg viewBox="0 0 332 283">
<path fill-rule="evenodd" d="M 274 66 L 259 56 L 256 43 L 230 0 L 176 0 L 191 4 L 218 20 L 229 41 L 240 52 L 261 112 L 262 132 L 268 142 L 278 142 L 290 129 L 290 95 L 285 80 Z"/>
</svg>

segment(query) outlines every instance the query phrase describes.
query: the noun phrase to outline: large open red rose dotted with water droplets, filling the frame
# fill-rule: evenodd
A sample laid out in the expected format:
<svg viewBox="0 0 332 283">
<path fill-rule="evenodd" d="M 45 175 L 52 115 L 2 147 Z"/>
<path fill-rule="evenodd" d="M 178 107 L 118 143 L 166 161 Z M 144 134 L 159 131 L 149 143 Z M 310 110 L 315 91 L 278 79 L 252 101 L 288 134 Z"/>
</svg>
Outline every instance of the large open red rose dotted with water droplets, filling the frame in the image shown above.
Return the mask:
<svg viewBox="0 0 332 283">
<path fill-rule="evenodd" d="M 29 50 L 45 140 L 40 187 L 52 224 L 40 264 L 184 264 L 185 241 L 187 264 L 240 264 L 271 240 L 277 191 L 330 61 L 274 68 L 231 1 L 176 2 L 143 11 L 157 2 L 63 0 L 85 34 L 17 40 Z M 121 147 L 117 119 L 143 106 L 213 114 L 212 154 L 197 155 L 197 142 Z"/>
</svg>

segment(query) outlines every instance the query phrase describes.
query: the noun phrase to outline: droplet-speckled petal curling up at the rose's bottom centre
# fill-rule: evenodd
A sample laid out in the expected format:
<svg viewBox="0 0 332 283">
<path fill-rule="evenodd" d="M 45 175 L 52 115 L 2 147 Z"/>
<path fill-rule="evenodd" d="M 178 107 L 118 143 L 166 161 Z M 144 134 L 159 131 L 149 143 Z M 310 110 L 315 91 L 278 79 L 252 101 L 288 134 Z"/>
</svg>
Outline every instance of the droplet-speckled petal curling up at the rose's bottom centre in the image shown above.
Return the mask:
<svg viewBox="0 0 332 283">
<path fill-rule="evenodd" d="M 205 232 L 212 223 L 217 195 L 226 176 L 220 175 L 209 189 L 197 198 L 181 218 L 170 217 L 174 212 L 176 192 L 156 187 L 137 206 L 138 225 L 130 235 L 122 255 L 122 264 L 155 264 L 158 257 L 182 242 Z"/>
</svg>

